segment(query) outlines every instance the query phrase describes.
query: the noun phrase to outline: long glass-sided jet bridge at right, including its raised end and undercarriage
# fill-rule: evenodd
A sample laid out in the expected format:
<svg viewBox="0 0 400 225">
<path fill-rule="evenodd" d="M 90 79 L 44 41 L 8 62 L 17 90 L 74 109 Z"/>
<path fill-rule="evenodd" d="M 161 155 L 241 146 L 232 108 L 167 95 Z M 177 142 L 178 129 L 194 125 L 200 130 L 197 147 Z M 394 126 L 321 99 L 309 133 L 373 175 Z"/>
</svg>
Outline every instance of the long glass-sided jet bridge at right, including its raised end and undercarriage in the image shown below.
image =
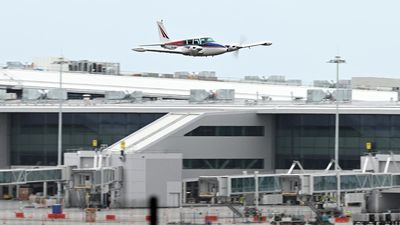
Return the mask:
<svg viewBox="0 0 400 225">
<path fill-rule="evenodd" d="M 344 195 L 351 195 L 349 199 L 358 196 L 359 202 L 364 200 L 364 197 L 359 197 L 360 193 L 399 192 L 400 170 L 397 169 L 400 168 L 397 166 L 399 157 L 394 155 L 386 155 L 386 158 L 383 155 L 365 157 L 361 160 L 362 169 L 354 171 L 329 170 L 333 164 L 331 162 L 325 170 L 307 172 L 299 162 L 294 161 L 289 171 L 281 174 L 202 176 L 198 179 L 199 197 L 209 198 L 210 202 L 229 202 L 236 201 L 240 196 L 254 196 L 254 198 L 258 196 L 259 199 L 267 201 L 272 199 L 269 198 L 271 196 L 281 196 L 282 204 L 285 196 L 292 196 L 294 201 L 299 201 L 300 196 L 335 196 L 338 180 L 340 191 Z M 300 170 L 294 172 L 296 165 Z"/>
</svg>

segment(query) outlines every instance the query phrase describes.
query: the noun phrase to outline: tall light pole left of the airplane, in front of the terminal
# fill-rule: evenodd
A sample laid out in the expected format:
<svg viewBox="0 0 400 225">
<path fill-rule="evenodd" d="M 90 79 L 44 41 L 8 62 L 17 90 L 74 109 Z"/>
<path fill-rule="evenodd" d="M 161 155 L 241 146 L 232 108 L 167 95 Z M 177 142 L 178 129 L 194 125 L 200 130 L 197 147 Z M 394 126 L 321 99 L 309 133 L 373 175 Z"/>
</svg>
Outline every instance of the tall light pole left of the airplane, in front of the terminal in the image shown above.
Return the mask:
<svg viewBox="0 0 400 225">
<path fill-rule="evenodd" d="M 62 70 L 64 63 L 68 63 L 65 61 L 64 57 L 58 58 L 57 61 L 53 62 L 54 64 L 60 65 L 60 78 L 59 78 L 59 88 L 60 92 L 62 92 Z M 57 141 L 57 166 L 61 167 L 62 165 L 62 104 L 63 98 L 60 96 L 58 102 L 58 141 Z M 60 203 L 61 200 L 61 182 L 57 182 L 57 201 Z"/>
</svg>

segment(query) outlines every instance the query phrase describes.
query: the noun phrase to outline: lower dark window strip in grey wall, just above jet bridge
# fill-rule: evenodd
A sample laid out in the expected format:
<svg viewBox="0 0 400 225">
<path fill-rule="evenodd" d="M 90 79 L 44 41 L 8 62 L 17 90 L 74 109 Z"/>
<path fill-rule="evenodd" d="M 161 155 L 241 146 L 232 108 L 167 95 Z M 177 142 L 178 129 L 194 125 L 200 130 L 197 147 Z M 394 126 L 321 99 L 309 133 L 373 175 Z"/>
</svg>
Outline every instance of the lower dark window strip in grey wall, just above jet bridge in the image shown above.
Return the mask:
<svg viewBox="0 0 400 225">
<path fill-rule="evenodd" d="M 183 159 L 183 169 L 264 169 L 264 159 Z"/>
</svg>

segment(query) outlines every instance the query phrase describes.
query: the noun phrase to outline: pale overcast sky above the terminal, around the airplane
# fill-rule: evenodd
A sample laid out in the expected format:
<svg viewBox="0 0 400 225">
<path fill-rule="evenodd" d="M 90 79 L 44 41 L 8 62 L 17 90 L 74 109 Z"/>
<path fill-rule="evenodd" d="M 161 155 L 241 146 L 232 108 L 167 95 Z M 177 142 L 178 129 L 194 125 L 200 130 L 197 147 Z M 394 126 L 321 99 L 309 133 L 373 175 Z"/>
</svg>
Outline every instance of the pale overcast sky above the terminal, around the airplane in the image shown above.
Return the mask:
<svg viewBox="0 0 400 225">
<path fill-rule="evenodd" d="M 124 71 L 216 71 L 219 77 L 335 78 L 325 63 L 340 54 L 342 78 L 400 75 L 398 0 L 2 0 L 0 64 L 35 56 L 120 62 Z M 219 43 L 270 40 L 239 58 L 137 53 L 159 41 L 207 35 Z"/>
</svg>

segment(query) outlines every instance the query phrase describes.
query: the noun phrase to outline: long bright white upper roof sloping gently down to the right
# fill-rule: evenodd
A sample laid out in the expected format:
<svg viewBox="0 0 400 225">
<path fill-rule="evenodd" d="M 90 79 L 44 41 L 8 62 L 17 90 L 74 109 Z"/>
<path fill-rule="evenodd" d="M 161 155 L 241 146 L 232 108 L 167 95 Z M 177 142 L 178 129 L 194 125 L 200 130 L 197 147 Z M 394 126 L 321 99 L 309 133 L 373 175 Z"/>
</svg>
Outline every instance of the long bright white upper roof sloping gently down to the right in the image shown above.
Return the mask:
<svg viewBox="0 0 400 225">
<path fill-rule="evenodd" d="M 57 88 L 59 72 L 0 69 L 0 87 L 10 88 Z M 154 78 L 120 75 L 98 75 L 63 72 L 63 87 L 68 91 L 104 93 L 105 91 L 142 91 L 147 96 L 187 99 L 190 89 L 235 89 L 236 99 L 256 99 L 269 96 L 274 101 L 307 97 L 308 89 L 323 89 L 309 86 L 272 85 L 232 81 L 204 81 L 175 78 Z M 332 90 L 333 91 L 333 90 Z M 353 101 L 393 101 L 397 92 L 354 89 Z"/>
</svg>

